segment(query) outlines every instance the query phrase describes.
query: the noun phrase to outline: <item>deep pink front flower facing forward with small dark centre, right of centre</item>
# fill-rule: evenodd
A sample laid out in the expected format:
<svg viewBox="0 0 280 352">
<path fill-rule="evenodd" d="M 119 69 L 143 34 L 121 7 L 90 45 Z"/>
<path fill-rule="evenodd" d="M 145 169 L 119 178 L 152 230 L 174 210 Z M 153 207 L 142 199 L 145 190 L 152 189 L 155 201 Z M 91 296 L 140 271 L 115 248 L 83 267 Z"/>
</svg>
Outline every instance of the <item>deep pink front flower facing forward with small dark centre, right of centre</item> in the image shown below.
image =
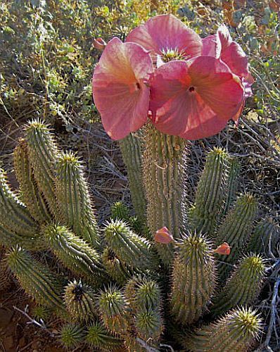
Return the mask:
<svg viewBox="0 0 280 352">
<path fill-rule="evenodd" d="M 161 132 L 185 139 L 210 137 L 240 113 L 243 87 L 217 58 L 171 61 L 151 78 L 152 122 Z"/>
</svg>

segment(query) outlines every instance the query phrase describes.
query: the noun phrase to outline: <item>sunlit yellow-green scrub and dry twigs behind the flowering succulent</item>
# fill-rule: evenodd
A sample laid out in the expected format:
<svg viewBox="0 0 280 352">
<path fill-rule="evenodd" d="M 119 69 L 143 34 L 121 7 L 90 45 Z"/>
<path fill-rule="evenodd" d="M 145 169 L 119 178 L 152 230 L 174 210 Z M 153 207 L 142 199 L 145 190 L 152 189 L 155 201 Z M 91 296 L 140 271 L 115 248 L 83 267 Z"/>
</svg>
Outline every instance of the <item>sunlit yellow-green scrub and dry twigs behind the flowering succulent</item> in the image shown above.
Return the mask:
<svg viewBox="0 0 280 352">
<path fill-rule="evenodd" d="M 209 146 L 224 146 L 241 160 L 241 190 L 254 191 L 263 213 L 279 220 L 280 25 L 279 1 L 6 0 L 0 4 L 0 164 L 13 169 L 11 153 L 27 119 L 44 118 L 62 147 L 87 161 L 100 221 L 116 199 L 129 203 L 118 146 L 99 122 L 91 99 L 91 75 L 100 52 L 96 37 L 125 39 L 129 30 L 160 13 L 174 13 L 205 37 L 226 23 L 249 56 L 254 96 L 238 128 L 189 145 L 190 199 Z M 14 182 L 15 180 L 11 180 Z M 270 300 L 260 302 L 269 326 Z M 269 291 L 270 287 L 267 288 Z M 5 296 L 5 295 L 4 295 Z M 4 297 L 11 308 L 13 291 Z M 18 301 L 12 304 L 17 304 Z M 278 296 L 274 308 L 278 304 Z M 6 306 L 5 306 L 6 304 Z M 7 306 L 10 304 L 10 306 Z M 277 317 L 274 317 L 276 341 Z M 272 329 L 273 330 L 273 329 Z M 21 336 L 22 334 L 20 334 Z M 20 336 L 14 340 L 19 341 Z M 1 340 L 0 340 L 1 341 Z M 18 343 L 18 342 L 16 342 Z M 1 344 L 0 344 L 1 346 Z"/>
</svg>

